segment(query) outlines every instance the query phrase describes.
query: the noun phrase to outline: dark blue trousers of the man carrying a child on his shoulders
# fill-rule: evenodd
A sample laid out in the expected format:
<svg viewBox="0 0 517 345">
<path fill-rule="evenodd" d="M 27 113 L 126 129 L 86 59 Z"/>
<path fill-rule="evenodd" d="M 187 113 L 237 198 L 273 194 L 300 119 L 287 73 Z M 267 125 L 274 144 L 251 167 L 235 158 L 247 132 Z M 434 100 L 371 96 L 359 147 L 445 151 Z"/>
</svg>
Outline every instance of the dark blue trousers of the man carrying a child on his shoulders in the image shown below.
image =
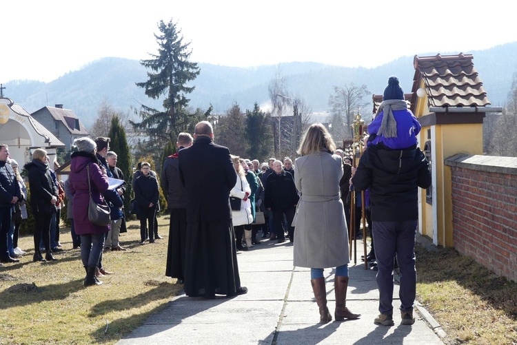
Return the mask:
<svg viewBox="0 0 517 345">
<path fill-rule="evenodd" d="M 393 314 L 394 258 L 401 271 L 401 311 L 413 311 L 416 296 L 415 235 L 417 220 L 373 222 L 379 308 L 382 314 Z"/>
</svg>

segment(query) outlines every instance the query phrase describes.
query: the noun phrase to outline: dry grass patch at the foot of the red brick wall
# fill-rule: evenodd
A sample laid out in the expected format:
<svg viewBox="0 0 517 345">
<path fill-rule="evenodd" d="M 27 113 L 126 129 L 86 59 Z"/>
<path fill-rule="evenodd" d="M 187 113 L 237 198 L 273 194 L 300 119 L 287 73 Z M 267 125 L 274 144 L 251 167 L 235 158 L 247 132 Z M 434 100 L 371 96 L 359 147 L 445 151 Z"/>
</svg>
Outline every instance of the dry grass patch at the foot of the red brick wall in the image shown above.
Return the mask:
<svg viewBox="0 0 517 345">
<path fill-rule="evenodd" d="M 417 298 L 447 344 L 517 344 L 517 284 L 454 249 L 416 247 Z"/>
</svg>

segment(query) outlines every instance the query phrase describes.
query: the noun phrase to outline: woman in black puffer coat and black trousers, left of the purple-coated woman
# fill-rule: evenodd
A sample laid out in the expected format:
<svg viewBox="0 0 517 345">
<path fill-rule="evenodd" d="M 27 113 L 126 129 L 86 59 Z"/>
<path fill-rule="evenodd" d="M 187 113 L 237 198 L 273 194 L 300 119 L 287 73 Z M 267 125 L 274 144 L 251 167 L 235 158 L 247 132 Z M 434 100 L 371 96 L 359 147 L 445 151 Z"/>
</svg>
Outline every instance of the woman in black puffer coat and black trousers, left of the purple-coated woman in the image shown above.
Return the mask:
<svg viewBox="0 0 517 345">
<path fill-rule="evenodd" d="M 25 169 L 28 171 L 30 188 L 30 207 L 36 218 L 34 229 L 34 257 L 35 261 L 57 260 L 50 250 L 50 222 L 52 214 L 57 213 L 56 202 L 59 196 L 56 185 L 52 182 L 52 176 L 47 164 L 47 151 L 36 149 L 32 153 L 32 161 L 27 163 Z M 45 245 L 45 258 L 39 251 L 39 241 L 43 236 Z"/>
</svg>

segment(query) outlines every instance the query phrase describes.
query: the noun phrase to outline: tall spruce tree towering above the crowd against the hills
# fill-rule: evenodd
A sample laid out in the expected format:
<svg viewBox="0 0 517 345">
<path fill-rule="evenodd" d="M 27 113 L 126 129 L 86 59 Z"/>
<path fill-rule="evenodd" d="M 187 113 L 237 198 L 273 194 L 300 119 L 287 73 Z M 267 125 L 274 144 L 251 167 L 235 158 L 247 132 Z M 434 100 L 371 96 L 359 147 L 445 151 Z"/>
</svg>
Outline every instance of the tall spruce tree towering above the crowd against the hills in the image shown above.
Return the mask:
<svg viewBox="0 0 517 345">
<path fill-rule="evenodd" d="M 142 121 L 131 122 L 136 130 L 149 137 L 144 147 L 154 155 L 159 154 L 168 141 L 175 142 L 180 132 L 192 127 L 190 122 L 198 120 L 196 114 L 190 114 L 187 109 L 190 99 L 186 95 L 194 91 L 194 86 L 187 83 L 199 75 L 197 63 L 188 61 L 192 54 L 188 48 L 190 43 L 183 43 L 181 30 L 172 19 L 168 23 L 160 21 L 158 28 L 160 33 L 154 34 L 158 54 L 150 54 L 152 59 L 140 61 L 152 72 L 147 73 L 148 81 L 136 85 L 143 87 L 150 98 L 165 96 L 163 110 L 142 105 L 138 112 Z M 156 161 L 159 158 L 156 156 Z"/>
</svg>

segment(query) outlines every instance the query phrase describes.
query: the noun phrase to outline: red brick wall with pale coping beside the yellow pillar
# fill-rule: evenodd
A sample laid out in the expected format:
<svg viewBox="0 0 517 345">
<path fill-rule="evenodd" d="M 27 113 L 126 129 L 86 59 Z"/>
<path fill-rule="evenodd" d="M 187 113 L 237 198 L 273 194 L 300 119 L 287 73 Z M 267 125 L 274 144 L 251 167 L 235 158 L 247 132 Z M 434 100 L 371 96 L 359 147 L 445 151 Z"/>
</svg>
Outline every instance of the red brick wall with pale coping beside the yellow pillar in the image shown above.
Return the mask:
<svg viewBox="0 0 517 345">
<path fill-rule="evenodd" d="M 517 281 L 517 158 L 458 154 L 451 168 L 454 248 Z"/>
</svg>

